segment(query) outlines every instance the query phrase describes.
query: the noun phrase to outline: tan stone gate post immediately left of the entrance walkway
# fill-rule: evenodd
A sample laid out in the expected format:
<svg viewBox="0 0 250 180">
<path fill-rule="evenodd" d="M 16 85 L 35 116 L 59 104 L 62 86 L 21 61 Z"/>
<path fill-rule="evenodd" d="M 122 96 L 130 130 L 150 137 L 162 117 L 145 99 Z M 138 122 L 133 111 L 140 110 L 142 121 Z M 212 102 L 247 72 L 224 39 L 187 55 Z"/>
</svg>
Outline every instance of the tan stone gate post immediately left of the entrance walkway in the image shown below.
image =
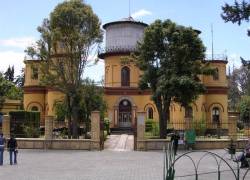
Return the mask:
<svg viewBox="0 0 250 180">
<path fill-rule="evenodd" d="M 100 145 L 100 112 L 91 112 L 91 149 L 101 150 Z"/>
</svg>

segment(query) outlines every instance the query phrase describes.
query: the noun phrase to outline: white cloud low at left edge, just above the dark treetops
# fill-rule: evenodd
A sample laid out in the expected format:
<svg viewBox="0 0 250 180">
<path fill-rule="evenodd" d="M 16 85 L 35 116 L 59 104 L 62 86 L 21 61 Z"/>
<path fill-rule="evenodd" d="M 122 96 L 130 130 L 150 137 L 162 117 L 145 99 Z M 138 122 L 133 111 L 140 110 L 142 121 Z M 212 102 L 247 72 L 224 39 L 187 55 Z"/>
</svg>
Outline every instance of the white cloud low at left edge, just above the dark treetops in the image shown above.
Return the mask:
<svg viewBox="0 0 250 180">
<path fill-rule="evenodd" d="M 5 72 L 9 66 L 15 67 L 15 76 L 24 67 L 24 53 L 14 51 L 0 51 L 0 71 Z"/>
</svg>

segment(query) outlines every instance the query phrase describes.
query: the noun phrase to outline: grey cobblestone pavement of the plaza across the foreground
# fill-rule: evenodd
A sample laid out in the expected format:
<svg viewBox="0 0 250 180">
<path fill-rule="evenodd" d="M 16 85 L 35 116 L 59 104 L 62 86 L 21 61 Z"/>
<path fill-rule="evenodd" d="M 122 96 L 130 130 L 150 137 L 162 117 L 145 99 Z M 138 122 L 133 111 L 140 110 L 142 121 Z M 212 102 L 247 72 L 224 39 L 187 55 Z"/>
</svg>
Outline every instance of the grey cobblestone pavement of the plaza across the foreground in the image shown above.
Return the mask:
<svg viewBox="0 0 250 180">
<path fill-rule="evenodd" d="M 118 137 L 116 137 L 118 138 Z M 122 146 L 126 147 L 126 146 Z M 118 148 L 120 149 L 120 148 Z M 224 150 L 213 151 L 221 156 Z M 178 152 L 178 156 L 183 152 Z M 195 163 L 204 153 L 192 153 Z M 177 157 L 178 157 L 177 156 Z M 236 167 L 228 155 L 226 161 Z M 198 172 L 217 171 L 216 161 L 205 156 Z M 188 158 L 181 158 L 175 165 L 177 180 L 194 180 L 194 168 Z M 221 165 L 221 180 L 234 180 L 225 163 Z M 246 169 L 241 169 L 243 174 Z M 137 151 L 66 151 L 66 150 L 20 150 L 18 165 L 8 164 L 4 154 L 4 166 L 0 166 L 0 180 L 162 180 L 163 153 Z M 185 176 L 185 177 L 182 177 Z M 199 175 L 199 180 L 215 180 L 216 173 Z M 250 179 L 249 175 L 246 180 Z"/>
</svg>

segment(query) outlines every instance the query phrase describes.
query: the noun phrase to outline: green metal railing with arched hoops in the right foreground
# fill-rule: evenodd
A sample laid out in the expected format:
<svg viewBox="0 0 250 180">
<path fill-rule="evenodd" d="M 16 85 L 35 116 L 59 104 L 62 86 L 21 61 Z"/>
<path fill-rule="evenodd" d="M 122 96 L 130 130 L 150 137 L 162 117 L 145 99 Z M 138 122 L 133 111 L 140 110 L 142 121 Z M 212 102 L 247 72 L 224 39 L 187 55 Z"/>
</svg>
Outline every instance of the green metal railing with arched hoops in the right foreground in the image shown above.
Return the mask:
<svg viewBox="0 0 250 180">
<path fill-rule="evenodd" d="M 228 152 L 189 151 L 175 156 L 171 143 L 164 149 L 163 180 L 174 179 L 235 179 L 250 178 L 250 168 L 241 169 Z M 197 156 L 198 154 L 198 156 Z M 196 155 L 196 156 L 194 156 Z"/>
</svg>

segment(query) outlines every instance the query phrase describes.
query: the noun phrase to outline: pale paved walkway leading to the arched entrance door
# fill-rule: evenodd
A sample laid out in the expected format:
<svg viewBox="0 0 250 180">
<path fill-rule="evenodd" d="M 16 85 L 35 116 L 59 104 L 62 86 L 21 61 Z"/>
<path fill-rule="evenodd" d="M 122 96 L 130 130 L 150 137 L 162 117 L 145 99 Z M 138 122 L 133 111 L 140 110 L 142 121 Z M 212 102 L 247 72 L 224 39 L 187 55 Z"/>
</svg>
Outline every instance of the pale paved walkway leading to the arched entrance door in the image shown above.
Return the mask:
<svg viewBox="0 0 250 180">
<path fill-rule="evenodd" d="M 128 134 L 110 135 L 105 141 L 104 148 L 111 151 L 133 151 L 134 136 Z"/>
</svg>

